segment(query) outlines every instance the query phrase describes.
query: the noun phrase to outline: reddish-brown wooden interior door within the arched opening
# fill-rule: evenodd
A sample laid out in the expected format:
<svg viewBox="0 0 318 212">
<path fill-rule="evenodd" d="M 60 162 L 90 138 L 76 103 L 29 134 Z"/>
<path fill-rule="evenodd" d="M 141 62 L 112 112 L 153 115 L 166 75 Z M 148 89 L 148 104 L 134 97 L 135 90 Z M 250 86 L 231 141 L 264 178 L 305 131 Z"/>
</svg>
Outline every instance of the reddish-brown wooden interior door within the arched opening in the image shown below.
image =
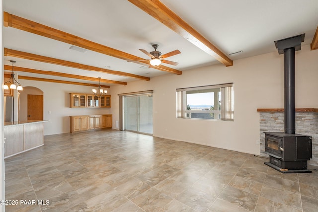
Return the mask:
<svg viewBox="0 0 318 212">
<path fill-rule="evenodd" d="M 28 94 L 28 120 L 43 120 L 43 95 Z"/>
</svg>

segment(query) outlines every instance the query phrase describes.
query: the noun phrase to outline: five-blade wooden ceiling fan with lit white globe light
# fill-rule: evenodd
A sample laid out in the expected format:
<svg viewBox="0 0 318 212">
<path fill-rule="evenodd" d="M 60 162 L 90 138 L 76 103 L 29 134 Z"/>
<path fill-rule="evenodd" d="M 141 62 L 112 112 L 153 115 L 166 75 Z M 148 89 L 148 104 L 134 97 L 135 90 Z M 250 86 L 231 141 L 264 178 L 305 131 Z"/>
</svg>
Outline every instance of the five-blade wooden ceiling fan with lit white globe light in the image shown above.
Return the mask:
<svg viewBox="0 0 318 212">
<path fill-rule="evenodd" d="M 162 53 L 157 51 L 158 44 L 153 44 L 152 46 L 155 49 L 155 51 L 152 51 L 152 52 L 147 52 L 144 49 L 139 49 L 140 51 L 142 51 L 143 53 L 148 55 L 151 59 L 134 60 L 134 61 L 128 61 L 128 62 L 149 61 L 151 66 L 159 66 L 161 63 L 171 64 L 171 65 L 174 65 L 174 66 L 179 64 L 177 62 L 168 61 L 168 60 L 164 60 L 163 59 L 163 58 L 171 57 L 173 55 L 180 54 L 181 52 L 179 50 L 174 50 L 172 52 L 169 52 L 169 53 L 161 55 Z"/>
</svg>

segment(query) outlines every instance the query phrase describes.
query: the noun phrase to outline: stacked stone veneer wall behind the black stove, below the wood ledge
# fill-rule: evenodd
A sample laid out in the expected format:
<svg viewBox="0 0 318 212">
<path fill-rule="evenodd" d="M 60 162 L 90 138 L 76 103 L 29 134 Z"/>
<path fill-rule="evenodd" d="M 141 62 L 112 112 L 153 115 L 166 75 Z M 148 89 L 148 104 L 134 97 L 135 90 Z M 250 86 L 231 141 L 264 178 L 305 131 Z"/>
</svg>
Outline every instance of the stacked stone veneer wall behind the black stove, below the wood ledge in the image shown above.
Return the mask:
<svg viewBox="0 0 318 212">
<path fill-rule="evenodd" d="M 284 132 L 284 112 L 260 112 L 260 153 L 265 153 L 264 132 Z M 309 165 L 318 166 L 318 113 L 296 112 L 296 132 L 312 137 L 313 158 L 308 161 Z"/>
</svg>

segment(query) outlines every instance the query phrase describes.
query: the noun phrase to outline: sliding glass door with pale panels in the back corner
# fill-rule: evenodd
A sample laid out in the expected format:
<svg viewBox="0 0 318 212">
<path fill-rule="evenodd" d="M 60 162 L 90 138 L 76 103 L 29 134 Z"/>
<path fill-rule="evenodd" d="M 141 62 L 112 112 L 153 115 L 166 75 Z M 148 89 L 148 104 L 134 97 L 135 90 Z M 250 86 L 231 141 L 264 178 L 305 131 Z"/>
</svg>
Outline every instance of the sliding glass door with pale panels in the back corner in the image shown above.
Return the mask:
<svg viewBox="0 0 318 212">
<path fill-rule="evenodd" d="M 124 97 L 125 130 L 153 133 L 153 95 Z"/>
</svg>

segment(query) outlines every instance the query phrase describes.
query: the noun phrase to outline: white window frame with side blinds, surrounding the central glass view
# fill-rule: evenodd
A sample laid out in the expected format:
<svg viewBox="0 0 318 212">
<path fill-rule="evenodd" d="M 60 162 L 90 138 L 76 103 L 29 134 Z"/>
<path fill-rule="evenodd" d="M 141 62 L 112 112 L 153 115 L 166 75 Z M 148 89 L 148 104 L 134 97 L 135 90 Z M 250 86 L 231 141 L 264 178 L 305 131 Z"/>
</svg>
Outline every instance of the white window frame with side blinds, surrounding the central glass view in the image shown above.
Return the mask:
<svg viewBox="0 0 318 212">
<path fill-rule="evenodd" d="M 207 90 L 220 89 L 221 91 L 221 110 L 187 110 L 186 93 L 197 92 L 204 93 Z M 219 84 L 219 85 L 208 85 L 200 87 L 188 87 L 188 88 L 178 88 L 176 89 L 176 99 L 177 99 L 177 118 L 182 119 L 192 119 L 191 113 L 214 113 L 216 119 L 205 119 L 205 120 L 224 120 L 233 121 L 234 120 L 234 93 L 233 93 L 233 83 Z M 196 118 L 200 119 L 200 118 Z"/>
</svg>

